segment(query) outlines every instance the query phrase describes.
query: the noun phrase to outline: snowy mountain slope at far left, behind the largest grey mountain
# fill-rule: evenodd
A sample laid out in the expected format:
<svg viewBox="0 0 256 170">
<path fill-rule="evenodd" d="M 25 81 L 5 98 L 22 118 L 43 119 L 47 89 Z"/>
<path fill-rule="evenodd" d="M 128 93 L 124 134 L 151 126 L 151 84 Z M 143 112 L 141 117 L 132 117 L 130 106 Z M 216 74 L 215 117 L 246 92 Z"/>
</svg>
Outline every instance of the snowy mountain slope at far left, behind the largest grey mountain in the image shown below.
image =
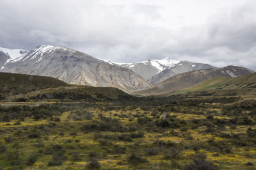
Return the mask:
<svg viewBox="0 0 256 170">
<path fill-rule="evenodd" d="M 4 68 L 6 63 L 9 63 L 13 59 L 20 58 L 28 53 L 28 50 L 22 49 L 6 49 L 0 47 L 0 68 Z"/>
</svg>

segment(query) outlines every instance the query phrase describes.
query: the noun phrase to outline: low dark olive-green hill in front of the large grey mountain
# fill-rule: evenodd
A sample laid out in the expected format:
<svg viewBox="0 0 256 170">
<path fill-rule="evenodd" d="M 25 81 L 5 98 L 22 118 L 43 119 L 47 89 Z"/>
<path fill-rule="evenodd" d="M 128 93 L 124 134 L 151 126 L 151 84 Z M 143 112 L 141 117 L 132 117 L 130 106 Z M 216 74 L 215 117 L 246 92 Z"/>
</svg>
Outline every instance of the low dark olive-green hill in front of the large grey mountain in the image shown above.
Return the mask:
<svg viewBox="0 0 256 170">
<path fill-rule="evenodd" d="M 0 73 L 0 100 L 13 96 L 33 99 L 115 100 L 132 98 L 124 91 L 111 87 L 77 86 L 56 78 Z"/>
</svg>

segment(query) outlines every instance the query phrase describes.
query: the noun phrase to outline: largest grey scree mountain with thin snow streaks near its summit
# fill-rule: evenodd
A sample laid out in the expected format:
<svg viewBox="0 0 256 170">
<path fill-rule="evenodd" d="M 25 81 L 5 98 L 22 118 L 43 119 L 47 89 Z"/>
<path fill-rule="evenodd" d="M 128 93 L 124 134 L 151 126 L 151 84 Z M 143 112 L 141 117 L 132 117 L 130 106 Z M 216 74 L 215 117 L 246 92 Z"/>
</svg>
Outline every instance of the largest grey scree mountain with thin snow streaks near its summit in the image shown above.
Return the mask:
<svg viewBox="0 0 256 170">
<path fill-rule="evenodd" d="M 111 65 L 83 52 L 40 45 L 4 65 L 1 72 L 55 77 L 70 84 L 111 86 L 124 91 L 148 88 L 151 84 L 122 66 Z"/>
</svg>

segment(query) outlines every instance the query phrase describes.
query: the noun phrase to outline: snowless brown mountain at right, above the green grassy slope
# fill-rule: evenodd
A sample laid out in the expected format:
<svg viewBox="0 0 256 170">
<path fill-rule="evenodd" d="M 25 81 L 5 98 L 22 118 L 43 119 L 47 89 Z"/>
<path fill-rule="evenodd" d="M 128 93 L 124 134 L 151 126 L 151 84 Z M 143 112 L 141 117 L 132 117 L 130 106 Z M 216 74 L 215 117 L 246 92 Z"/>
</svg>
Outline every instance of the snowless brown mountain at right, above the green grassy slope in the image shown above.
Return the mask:
<svg viewBox="0 0 256 170">
<path fill-rule="evenodd" d="M 248 68 L 239 66 L 226 66 L 224 68 L 211 68 L 207 70 L 194 70 L 191 72 L 180 73 L 163 82 L 159 82 L 151 88 L 134 92 L 140 95 L 164 95 L 174 93 L 180 89 L 189 88 L 200 82 L 212 79 L 214 77 L 239 77 L 253 73 Z"/>
</svg>

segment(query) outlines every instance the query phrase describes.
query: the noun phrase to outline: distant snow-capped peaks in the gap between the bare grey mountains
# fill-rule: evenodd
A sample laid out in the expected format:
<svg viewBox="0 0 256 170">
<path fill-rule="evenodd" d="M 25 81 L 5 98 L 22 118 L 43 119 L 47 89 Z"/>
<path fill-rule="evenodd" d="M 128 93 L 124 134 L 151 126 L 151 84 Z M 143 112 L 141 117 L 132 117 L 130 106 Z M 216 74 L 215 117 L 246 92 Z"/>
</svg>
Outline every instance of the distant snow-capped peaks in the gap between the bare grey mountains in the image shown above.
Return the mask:
<svg viewBox="0 0 256 170">
<path fill-rule="evenodd" d="M 105 61 L 111 65 L 124 66 L 129 68 L 141 75 L 141 77 L 146 80 L 149 80 L 152 76 L 162 72 L 165 69 L 172 68 L 180 62 L 173 58 L 148 59 L 147 61 L 139 61 L 136 63 L 116 63 L 107 59 L 102 59 L 102 61 Z"/>
</svg>

